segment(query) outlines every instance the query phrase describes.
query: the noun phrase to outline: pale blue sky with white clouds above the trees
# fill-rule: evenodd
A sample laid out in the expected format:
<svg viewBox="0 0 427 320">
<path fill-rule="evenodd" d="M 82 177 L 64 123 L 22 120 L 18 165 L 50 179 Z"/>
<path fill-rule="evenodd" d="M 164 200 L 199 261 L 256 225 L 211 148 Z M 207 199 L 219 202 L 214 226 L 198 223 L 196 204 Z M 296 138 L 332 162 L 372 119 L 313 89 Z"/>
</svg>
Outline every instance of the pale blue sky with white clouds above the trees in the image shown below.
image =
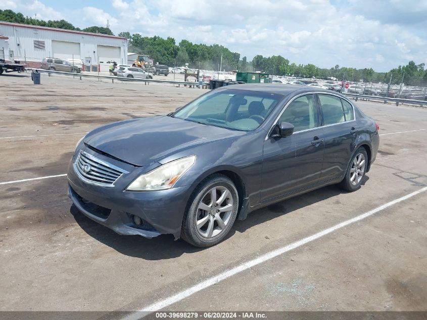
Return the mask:
<svg viewBox="0 0 427 320">
<path fill-rule="evenodd" d="M 222 44 L 248 60 L 281 55 L 321 68 L 427 64 L 427 0 L 2 0 L 42 20 Z"/>
</svg>

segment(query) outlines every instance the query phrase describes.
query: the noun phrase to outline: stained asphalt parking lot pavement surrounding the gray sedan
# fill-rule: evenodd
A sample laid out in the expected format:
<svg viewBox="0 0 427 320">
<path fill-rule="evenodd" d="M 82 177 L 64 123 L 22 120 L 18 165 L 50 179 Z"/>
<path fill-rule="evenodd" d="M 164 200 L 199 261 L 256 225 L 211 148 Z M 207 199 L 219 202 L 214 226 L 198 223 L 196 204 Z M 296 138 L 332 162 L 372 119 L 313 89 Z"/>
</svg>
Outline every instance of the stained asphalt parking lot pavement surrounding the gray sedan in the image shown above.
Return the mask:
<svg viewBox="0 0 427 320">
<path fill-rule="evenodd" d="M 0 138 L 13 137 L 0 139 L 0 182 L 66 173 L 82 132 L 166 114 L 206 92 L 58 76 L 42 76 L 40 86 L 28 83 L 28 77 L 0 77 L 8 89 L 0 97 Z M 427 110 L 357 105 L 382 134 L 359 191 L 330 186 L 257 210 L 208 249 L 168 235 L 115 234 L 71 206 L 64 176 L 0 185 L 0 310 L 138 310 L 427 186 Z M 425 310 L 425 194 L 166 309 Z"/>
</svg>

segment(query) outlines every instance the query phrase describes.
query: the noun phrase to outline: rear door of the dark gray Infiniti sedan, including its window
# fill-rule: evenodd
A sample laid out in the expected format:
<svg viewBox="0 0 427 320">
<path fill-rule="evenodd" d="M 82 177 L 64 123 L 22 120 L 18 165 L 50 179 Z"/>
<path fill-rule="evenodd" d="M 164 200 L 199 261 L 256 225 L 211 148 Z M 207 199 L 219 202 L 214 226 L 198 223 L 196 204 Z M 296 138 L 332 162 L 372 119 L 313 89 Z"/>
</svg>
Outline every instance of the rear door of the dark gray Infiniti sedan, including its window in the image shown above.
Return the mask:
<svg viewBox="0 0 427 320">
<path fill-rule="evenodd" d="M 324 157 L 321 181 L 345 174 L 359 139 L 354 108 L 345 99 L 331 94 L 318 94 L 324 133 Z"/>
</svg>

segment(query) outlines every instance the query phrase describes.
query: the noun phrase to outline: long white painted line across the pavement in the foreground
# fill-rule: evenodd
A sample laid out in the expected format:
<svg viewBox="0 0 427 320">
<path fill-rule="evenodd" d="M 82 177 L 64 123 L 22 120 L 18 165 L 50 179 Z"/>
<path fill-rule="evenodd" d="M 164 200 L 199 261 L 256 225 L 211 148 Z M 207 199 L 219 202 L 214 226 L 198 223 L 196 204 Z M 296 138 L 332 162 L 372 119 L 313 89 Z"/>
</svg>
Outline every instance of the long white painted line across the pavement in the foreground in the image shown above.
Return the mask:
<svg viewBox="0 0 427 320">
<path fill-rule="evenodd" d="M 253 266 L 256 266 L 256 265 L 258 265 L 260 263 L 263 263 L 263 262 L 265 262 L 267 260 L 270 260 L 270 259 L 272 259 L 274 257 L 277 257 L 277 256 L 279 256 L 279 255 L 281 255 L 281 254 L 283 254 L 285 252 L 288 252 L 288 251 L 291 251 L 291 250 L 296 249 L 298 247 L 301 247 L 301 246 L 303 246 L 303 245 L 305 245 L 305 244 L 307 244 L 309 242 L 312 242 L 312 241 L 314 241 L 316 239 L 319 239 L 319 238 L 321 238 L 321 237 L 323 237 L 325 235 L 333 233 L 334 231 L 337 231 L 338 229 L 340 229 L 342 227 L 345 227 L 345 226 L 347 226 L 347 225 L 349 225 L 351 223 L 354 223 L 354 222 L 360 221 L 362 219 L 365 219 L 368 216 L 370 216 L 370 215 L 372 215 L 372 214 L 374 214 L 374 213 L 376 213 L 378 211 L 382 211 L 382 210 L 384 210 L 384 209 L 386 209 L 386 208 L 388 208 L 390 206 L 393 206 L 393 205 L 395 205 L 395 204 L 397 204 L 399 202 L 402 202 L 402 201 L 404 201 L 406 199 L 409 199 L 409 198 L 411 198 L 413 196 L 416 196 L 416 195 L 418 195 L 418 194 L 420 194 L 420 193 L 422 193 L 424 191 L 427 191 L 427 187 L 419 189 L 419 190 L 417 190 L 415 192 L 412 192 L 412 193 L 410 193 L 410 194 L 408 194 L 406 196 L 403 196 L 403 197 L 401 197 L 399 199 L 390 201 L 390 202 L 388 202 L 386 204 L 383 204 L 382 206 L 379 206 L 379 207 L 377 207 L 377 208 L 375 208 L 373 210 L 370 210 L 370 211 L 368 211 L 366 213 L 358 215 L 358 216 L 356 216 L 356 217 L 354 217 L 352 219 L 346 220 L 346 221 L 341 222 L 341 223 L 339 223 L 337 225 L 334 225 L 334 226 L 332 226 L 330 228 L 327 228 L 327 229 L 325 229 L 325 230 L 323 230 L 321 232 L 318 232 L 318 233 L 316 233 L 316 234 L 314 234 L 312 236 L 309 236 L 307 238 L 301 239 L 299 241 L 291 243 L 290 245 L 287 245 L 285 247 L 279 248 L 277 250 L 268 252 L 268 253 L 266 253 L 266 254 L 264 254 L 262 256 L 259 256 L 258 258 L 255 258 L 253 260 L 244 262 L 244 263 L 242 263 L 242 264 L 240 264 L 240 265 L 238 265 L 238 266 L 236 266 L 234 268 L 231 268 L 231 269 L 229 269 L 227 271 L 219 273 L 219 275 L 216 275 L 216 276 L 214 276 L 212 278 L 209 278 L 209 279 L 207 279 L 205 281 L 202 281 L 202 282 L 198 283 L 197 285 L 195 285 L 193 287 L 190 287 L 190 288 L 188 288 L 188 289 L 186 289 L 184 291 L 181 291 L 181 292 L 179 292 L 179 293 L 177 293 L 177 294 L 175 294 L 173 296 L 170 296 L 170 297 L 168 297 L 166 299 L 160 300 L 160 301 L 158 301 L 158 302 L 156 302 L 154 304 L 148 305 L 148 306 L 146 306 L 146 307 L 144 307 L 144 308 L 142 308 L 142 309 L 140 309 L 138 311 L 132 312 L 129 315 L 123 317 L 122 320 L 136 320 L 136 319 L 139 319 L 141 317 L 144 317 L 144 316 L 148 315 L 149 313 L 161 310 L 161 309 L 163 309 L 165 307 L 168 307 L 168 306 L 170 306 L 170 305 L 172 305 L 172 304 L 174 304 L 174 303 L 176 303 L 178 301 L 181 301 L 182 299 L 185 299 L 185 298 L 187 298 L 187 297 L 189 297 L 189 296 L 191 296 L 191 295 L 193 295 L 193 294 L 195 294 L 195 293 L 197 293 L 197 292 L 199 292 L 199 291 L 201 291 L 203 289 L 211 287 L 211 286 L 217 284 L 218 282 L 220 282 L 222 280 L 230 278 L 230 277 L 236 275 L 237 273 L 240 273 L 240 272 L 242 272 L 244 270 L 247 270 L 247 269 L 249 269 L 249 268 L 251 268 Z"/>
</svg>

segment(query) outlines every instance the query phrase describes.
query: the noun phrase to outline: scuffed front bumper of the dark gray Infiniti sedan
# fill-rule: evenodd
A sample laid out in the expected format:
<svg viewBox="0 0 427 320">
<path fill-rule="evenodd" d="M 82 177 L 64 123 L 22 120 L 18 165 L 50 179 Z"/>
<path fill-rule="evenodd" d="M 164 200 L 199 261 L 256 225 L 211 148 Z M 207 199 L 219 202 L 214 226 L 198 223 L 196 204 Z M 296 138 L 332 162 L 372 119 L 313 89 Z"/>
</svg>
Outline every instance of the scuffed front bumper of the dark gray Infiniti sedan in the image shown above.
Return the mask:
<svg viewBox="0 0 427 320">
<path fill-rule="evenodd" d="M 128 170 L 129 175 L 132 175 L 130 165 L 88 149 L 85 151 Z M 124 174 L 116 181 L 115 187 L 93 186 L 78 177 L 74 171 L 74 161 L 75 156 L 68 166 L 68 195 L 85 216 L 120 235 L 153 238 L 160 234 L 172 234 L 176 239 L 179 238 L 182 217 L 192 192 L 191 185 L 161 191 L 124 191 L 131 182 L 127 174 Z M 137 226 L 132 215 L 140 217 L 145 223 Z"/>
</svg>

